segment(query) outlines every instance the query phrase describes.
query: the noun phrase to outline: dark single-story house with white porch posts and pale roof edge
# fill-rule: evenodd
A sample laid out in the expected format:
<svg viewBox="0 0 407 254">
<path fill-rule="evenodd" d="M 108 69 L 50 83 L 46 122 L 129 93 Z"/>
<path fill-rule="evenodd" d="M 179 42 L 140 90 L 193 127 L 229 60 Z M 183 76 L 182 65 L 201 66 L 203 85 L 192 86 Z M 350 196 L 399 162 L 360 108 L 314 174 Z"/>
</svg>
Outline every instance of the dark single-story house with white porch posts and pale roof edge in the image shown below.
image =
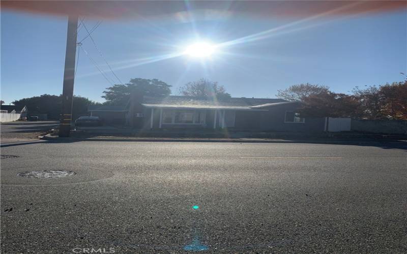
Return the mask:
<svg viewBox="0 0 407 254">
<path fill-rule="evenodd" d="M 94 116 L 119 119 L 137 129 L 231 129 L 249 131 L 322 132 L 325 118 L 304 118 L 300 102 L 260 98 L 149 97 L 132 94 L 125 107 L 92 110 Z M 102 110 L 103 109 L 103 110 Z M 105 121 L 107 119 L 105 118 Z"/>
</svg>

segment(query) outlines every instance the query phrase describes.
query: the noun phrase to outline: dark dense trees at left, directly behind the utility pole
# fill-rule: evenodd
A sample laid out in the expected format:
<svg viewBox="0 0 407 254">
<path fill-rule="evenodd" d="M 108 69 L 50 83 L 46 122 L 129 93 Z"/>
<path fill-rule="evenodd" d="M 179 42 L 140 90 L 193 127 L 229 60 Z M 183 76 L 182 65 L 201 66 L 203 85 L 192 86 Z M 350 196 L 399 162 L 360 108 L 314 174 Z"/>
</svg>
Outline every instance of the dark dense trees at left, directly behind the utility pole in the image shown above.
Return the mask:
<svg viewBox="0 0 407 254">
<path fill-rule="evenodd" d="M 42 96 L 35 96 L 31 98 L 24 98 L 12 102 L 19 108 L 27 107 L 29 114 L 47 114 L 48 119 L 60 119 L 62 110 L 62 96 L 43 94 Z M 88 106 L 97 105 L 88 98 L 80 96 L 73 97 L 72 103 L 72 119 L 76 119 L 81 115 L 88 114 Z"/>
</svg>

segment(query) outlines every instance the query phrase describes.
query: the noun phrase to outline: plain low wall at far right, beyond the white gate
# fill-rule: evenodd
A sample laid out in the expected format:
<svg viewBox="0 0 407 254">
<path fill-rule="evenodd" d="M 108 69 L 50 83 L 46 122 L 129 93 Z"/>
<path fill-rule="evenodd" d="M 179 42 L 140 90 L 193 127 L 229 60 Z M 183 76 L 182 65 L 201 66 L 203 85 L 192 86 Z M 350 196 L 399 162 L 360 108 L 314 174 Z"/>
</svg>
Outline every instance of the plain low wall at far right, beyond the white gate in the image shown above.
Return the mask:
<svg viewBox="0 0 407 254">
<path fill-rule="evenodd" d="M 367 133 L 407 134 L 407 120 L 352 119 L 351 130 Z"/>
</svg>

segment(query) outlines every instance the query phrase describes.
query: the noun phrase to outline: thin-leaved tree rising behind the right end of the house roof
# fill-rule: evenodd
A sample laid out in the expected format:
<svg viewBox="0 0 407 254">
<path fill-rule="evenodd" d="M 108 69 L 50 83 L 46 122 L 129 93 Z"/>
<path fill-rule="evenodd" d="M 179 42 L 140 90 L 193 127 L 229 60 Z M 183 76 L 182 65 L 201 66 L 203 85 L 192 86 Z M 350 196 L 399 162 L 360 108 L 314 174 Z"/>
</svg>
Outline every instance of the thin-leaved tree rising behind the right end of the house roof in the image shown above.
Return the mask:
<svg viewBox="0 0 407 254">
<path fill-rule="evenodd" d="M 277 90 L 276 97 L 287 101 L 304 101 L 312 94 L 326 93 L 329 87 L 325 85 L 312 85 L 309 83 L 292 85 L 284 90 Z"/>
</svg>

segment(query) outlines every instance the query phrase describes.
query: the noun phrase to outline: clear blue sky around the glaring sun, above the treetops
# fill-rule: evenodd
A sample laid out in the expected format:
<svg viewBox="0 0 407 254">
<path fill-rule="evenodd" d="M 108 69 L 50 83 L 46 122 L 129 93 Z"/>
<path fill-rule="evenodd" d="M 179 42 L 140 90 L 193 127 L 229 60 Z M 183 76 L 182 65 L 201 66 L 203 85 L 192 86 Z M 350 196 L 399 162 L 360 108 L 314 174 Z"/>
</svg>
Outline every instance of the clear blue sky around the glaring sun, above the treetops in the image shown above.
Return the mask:
<svg viewBox="0 0 407 254">
<path fill-rule="evenodd" d="M 172 94 L 200 78 L 218 81 L 232 97 L 257 98 L 275 98 L 277 89 L 305 82 L 347 92 L 355 86 L 403 80 L 399 73 L 407 72 L 405 11 L 296 22 L 300 19 L 215 15 L 194 22 L 103 20 L 92 36 L 124 83 L 130 78 L 157 78 L 172 85 Z M 97 21 L 84 19 L 88 29 Z M 287 25 L 292 22 L 296 23 Z M 62 93 L 66 29 L 66 18 L 1 11 L 1 99 L 7 105 Z M 81 28 L 78 40 L 85 36 Z M 196 40 L 224 46 L 204 60 L 170 57 Z M 82 47 L 111 83 L 119 83 L 90 38 Z M 80 51 L 74 93 L 103 102 L 102 92 L 110 85 Z"/>
</svg>

